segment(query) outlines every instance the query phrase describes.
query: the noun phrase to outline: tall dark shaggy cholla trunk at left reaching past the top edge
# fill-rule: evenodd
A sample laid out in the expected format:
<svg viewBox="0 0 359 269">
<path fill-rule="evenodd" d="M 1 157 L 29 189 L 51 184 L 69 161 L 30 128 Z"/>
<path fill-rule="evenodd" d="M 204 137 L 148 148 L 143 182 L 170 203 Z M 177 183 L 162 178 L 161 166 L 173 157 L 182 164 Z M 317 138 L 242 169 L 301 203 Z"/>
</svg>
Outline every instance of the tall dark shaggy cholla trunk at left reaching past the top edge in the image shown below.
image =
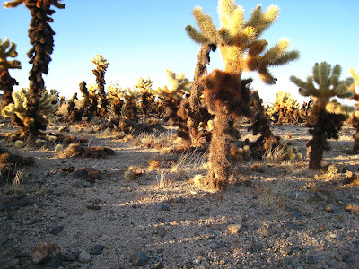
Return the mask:
<svg viewBox="0 0 359 269">
<path fill-rule="evenodd" d="M 30 84 L 28 97 L 26 97 L 25 106 L 22 106 L 25 111 L 19 113 L 26 121 L 23 122 L 19 120 L 16 124 L 20 127 L 23 134 L 36 137 L 40 130 L 45 130 L 47 127 L 47 121 L 44 120 L 44 117 L 40 116 L 42 112 L 39 110 L 41 109 L 41 100 L 43 101 L 44 94 L 48 94 L 46 93 L 47 91 L 45 91 L 42 74 L 48 74 L 48 64 L 51 61 L 50 55 L 54 47 L 53 36 L 55 32 L 48 24 L 49 22 L 53 22 L 51 15 L 55 13 L 51 7 L 55 6 L 62 9 L 65 8 L 65 5 L 60 4 L 59 0 L 15 0 L 5 2 L 3 5 L 9 8 L 22 3 L 31 11 L 31 22 L 28 34 L 32 48 L 27 53 L 27 56 L 30 58 L 29 62 L 32 64 L 32 68 L 29 73 Z M 13 104 L 13 108 L 19 108 L 19 104 Z M 12 111 L 13 108 L 7 108 L 5 113 L 11 114 L 10 111 Z"/>
</svg>

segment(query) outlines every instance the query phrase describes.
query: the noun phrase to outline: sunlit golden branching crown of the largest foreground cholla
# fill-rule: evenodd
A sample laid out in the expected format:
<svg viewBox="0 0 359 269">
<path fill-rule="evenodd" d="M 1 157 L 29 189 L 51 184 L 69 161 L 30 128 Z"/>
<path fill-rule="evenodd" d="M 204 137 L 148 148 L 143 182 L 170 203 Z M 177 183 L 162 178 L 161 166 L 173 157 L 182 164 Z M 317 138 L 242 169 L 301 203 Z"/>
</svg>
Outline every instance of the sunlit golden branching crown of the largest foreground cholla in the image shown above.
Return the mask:
<svg viewBox="0 0 359 269">
<path fill-rule="evenodd" d="M 246 22 L 244 10 L 233 0 L 219 0 L 218 14 L 221 28 L 217 30 L 215 23 L 201 7 L 193 10 L 200 31 L 193 26 L 186 27 L 188 36 L 197 43 L 212 43 L 221 50 L 224 71 L 239 74 L 244 71 L 257 71 L 261 80 L 267 84 L 276 83 L 268 71 L 268 67 L 284 65 L 296 58 L 297 51 L 287 51 L 288 39 L 280 39 L 276 46 L 267 48 L 267 40 L 259 39 L 264 30 L 279 16 L 279 7 L 271 5 L 262 12 L 258 5 Z"/>
</svg>

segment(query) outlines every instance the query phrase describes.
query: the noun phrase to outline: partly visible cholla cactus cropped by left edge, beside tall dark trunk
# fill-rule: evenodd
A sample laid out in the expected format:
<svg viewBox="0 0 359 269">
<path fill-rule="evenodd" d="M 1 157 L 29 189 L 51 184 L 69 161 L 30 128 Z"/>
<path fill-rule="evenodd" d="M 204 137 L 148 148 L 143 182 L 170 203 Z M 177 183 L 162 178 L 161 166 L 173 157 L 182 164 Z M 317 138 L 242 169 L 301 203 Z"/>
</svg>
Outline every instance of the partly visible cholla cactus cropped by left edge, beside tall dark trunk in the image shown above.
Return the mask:
<svg viewBox="0 0 359 269">
<path fill-rule="evenodd" d="M 0 109 L 13 102 L 13 86 L 19 85 L 15 79 L 9 74 L 9 69 L 21 69 L 22 65 L 19 61 L 9 61 L 7 58 L 17 56 L 16 44 L 9 41 L 8 38 L 4 42 L 0 39 L 0 90 L 4 91 L 3 103 Z"/>
</svg>

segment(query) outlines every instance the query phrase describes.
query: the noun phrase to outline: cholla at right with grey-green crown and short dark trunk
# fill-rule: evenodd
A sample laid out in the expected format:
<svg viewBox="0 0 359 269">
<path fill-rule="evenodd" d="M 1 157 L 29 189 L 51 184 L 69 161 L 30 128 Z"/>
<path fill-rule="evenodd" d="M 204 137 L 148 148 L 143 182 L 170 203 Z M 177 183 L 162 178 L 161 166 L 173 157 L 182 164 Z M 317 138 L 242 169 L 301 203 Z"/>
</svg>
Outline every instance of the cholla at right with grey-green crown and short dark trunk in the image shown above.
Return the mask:
<svg viewBox="0 0 359 269">
<path fill-rule="evenodd" d="M 302 96 L 311 96 L 313 100 L 307 117 L 312 135 L 312 139 L 307 143 L 310 169 L 320 169 L 324 151 L 330 150 L 327 139 L 338 138 L 338 131 L 342 128 L 347 113 L 354 110 L 353 107 L 339 104 L 337 100 L 331 100 L 333 97 L 353 96 L 353 92 L 348 91 L 353 79 L 340 80 L 341 73 L 340 65 L 331 68 L 331 65 L 322 62 L 314 65 L 313 75 L 308 76 L 307 82 L 291 76 L 291 81 L 300 87 L 299 93 Z"/>
</svg>

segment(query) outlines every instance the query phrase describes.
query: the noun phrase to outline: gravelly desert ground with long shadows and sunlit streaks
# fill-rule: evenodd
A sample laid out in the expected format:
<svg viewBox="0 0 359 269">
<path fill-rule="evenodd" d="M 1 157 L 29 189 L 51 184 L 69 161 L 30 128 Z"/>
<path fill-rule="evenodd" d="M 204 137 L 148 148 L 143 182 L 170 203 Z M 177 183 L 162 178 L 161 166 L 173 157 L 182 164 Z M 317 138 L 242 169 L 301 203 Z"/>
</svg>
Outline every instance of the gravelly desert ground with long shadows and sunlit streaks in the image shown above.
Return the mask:
<svg viewBox="0 0 359 269">
<path fill-rule="evenodd" d="M 104 159 L 1 140 L 35 164 L 19 169 L 20 184 L 1 186 L 0 268 L 359 268 L 359 160 L 347 151 L 354 129 L 331 140 L 323 169 L 312 171 L 308 128 L 272 128 L 302 160 L 244 160 L 221 193 L 194 183 L 206 175 L 207 154 L 172 153 L 171 128 L 118 137 L 95 124 L 70 126 L 68 134 L 116 152 Z M 3 134 L 14 130 L 2 124 Z M 241 138 L 255 139 L 245 126 Z M 61 171 L 70 166 L 98 174 Z M 136 177 L 125 178 L 128 170 Z M 31 253 L 44 242 L 59 247 L 61 261 L 33 265 Z"/>
</svg>

